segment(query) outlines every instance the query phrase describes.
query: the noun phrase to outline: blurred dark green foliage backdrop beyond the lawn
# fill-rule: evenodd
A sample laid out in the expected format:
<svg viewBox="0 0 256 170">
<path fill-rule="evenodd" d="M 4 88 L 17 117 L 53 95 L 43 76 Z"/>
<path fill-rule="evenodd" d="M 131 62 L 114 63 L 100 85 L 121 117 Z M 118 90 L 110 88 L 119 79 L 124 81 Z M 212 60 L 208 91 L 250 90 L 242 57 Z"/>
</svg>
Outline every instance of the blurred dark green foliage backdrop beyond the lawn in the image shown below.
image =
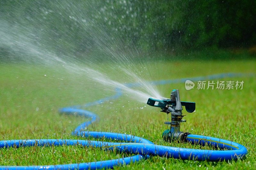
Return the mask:
<svg viewBox="0 0 256 170">
<path fill-rule="evenodd" d="M 230 59 L 255 57 L 255 6 L 254 0 L 2 0 L 0 15 L 10 32 L 24 33 L 36 44 L 47 42 L 58 55 L 97 58 L 113 55 L 109 49 L 115 48 L 130 57 Z M 29 31 L 19 28 L 24 25 Z M 198 51 L 203 54 L 195 55 Z M 0 42 L 1 61 L 13 55 Z"/>
</svg>

